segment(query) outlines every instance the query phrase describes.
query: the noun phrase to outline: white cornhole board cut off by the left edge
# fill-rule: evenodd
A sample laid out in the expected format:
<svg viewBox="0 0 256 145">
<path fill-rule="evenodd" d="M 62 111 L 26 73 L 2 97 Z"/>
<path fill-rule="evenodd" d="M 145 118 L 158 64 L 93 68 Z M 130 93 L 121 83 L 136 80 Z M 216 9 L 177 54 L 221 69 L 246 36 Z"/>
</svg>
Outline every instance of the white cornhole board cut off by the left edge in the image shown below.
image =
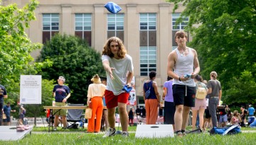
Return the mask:
<svg viewBox="0 0 256 145">
<path fill-rule="evenodd" d="M 1 141 L 17 141 L 18 139 L 23 139 L 26 134 L 32 131 L 33 127 L 23 132 L 17 132 L 16 126 L 0 126 L 0 140 Z"/>
</svg>

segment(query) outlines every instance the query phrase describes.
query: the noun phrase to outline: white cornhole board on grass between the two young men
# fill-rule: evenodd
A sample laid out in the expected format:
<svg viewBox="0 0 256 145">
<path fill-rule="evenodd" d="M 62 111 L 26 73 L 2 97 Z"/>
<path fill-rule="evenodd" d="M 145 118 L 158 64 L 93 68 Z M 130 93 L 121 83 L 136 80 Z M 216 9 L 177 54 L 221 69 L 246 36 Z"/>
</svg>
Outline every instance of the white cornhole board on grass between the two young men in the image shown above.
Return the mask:
<svg viewBox="0 0 256 145">
<path fill-rule="evenodd" d="M 137 138 L 174 137 L 174 129 L 171 124 L 138 124 L 135 137 Z"/>
</svg>

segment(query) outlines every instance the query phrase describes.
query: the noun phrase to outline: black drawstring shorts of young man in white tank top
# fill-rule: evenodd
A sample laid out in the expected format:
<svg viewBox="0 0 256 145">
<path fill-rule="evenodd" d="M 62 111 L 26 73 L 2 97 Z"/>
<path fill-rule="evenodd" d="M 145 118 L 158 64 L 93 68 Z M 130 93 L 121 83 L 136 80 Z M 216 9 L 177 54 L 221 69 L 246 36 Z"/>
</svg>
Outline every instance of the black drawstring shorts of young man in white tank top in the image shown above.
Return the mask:
<svg viewBox="0 0 256 145">
<path fill-rule="evenodd" d="M 174 85 L 172 88 L 175 105 L 195 107 L 196 87 Z"/>
</svg>

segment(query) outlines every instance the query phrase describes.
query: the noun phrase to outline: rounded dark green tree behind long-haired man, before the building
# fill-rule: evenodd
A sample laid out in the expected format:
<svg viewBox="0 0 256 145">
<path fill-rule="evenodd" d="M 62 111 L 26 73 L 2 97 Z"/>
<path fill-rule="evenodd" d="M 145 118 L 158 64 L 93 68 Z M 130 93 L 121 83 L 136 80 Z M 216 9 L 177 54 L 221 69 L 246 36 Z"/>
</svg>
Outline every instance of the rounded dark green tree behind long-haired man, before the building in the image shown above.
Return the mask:
<svg viewBox="0 0 256 145">
<path fill-rule="evenodd" d="M 64 76 L 71 90 L 69 103 L 85 103 L 90 79 L 95 74 L 105 75 L 101 54 L 88 46 L 85 40 L 72 35 L 56 34 L 46 42 L 38 62 L 50 59 L 53 66 L 42 69 L 44 79 Z"/>
</svg>

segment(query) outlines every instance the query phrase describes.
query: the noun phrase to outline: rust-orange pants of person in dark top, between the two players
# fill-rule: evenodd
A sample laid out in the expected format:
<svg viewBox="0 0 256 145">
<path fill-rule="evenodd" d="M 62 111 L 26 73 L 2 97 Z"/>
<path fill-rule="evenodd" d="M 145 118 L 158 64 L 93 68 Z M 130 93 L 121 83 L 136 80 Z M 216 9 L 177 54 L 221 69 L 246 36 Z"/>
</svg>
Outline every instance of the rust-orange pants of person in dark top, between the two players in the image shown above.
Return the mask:
<svg viewBox="0 0 256 145">
<path fill-rule="evenodd" d="M 158 102 L 157 99 L 146 99 L 146 124 L 156 124 L 158 117 Z"/>
</svg>

